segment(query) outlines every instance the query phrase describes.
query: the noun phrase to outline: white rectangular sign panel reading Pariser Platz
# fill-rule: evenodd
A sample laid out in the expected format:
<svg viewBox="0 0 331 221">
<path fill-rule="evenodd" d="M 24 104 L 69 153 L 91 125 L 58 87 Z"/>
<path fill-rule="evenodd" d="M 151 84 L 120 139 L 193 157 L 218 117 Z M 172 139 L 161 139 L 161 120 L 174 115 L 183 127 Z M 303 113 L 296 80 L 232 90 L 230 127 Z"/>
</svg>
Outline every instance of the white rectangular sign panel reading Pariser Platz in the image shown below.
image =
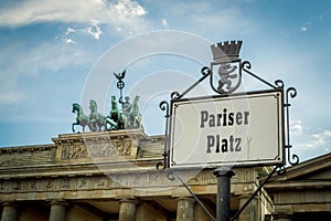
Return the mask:
<svg viewBox="0 0 331 221">
<path fill-rule="evenodd" d="M 282 165 L 282 91 L 172 101 L 170 167 Z"/>
</svg>

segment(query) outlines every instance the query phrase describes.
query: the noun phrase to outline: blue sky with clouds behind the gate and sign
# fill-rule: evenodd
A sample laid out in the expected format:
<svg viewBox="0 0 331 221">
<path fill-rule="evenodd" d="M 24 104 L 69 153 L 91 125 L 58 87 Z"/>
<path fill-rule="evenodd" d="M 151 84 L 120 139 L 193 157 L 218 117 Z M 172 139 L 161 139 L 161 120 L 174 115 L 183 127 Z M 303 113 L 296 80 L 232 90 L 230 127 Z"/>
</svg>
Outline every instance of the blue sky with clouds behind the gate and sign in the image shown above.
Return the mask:
<svg viewBox="0 0 331 221">
<path fill-rule="evenodd" d="M 192 42 L 179 41 L 183 35 Z M 71 133 L 72 104 L 84 104 L 94 95 L 106 114 L 108 97 L 119 94 L 113 72 L 125 69 L 125 94 L 142 94 L 147 134 L 162 134 L 158 104 L 197 80 L 211 61 L 210 49 L 199 46 L 243 40 L 241 56 L 252 63 L 254 73 L 269 82 L 281 78 L 298 91 L 290 109 L 293 151 L 302 160 L 327 154 L 330 38 L 329 0 L 4 0 L 0 146 L 47 144 Z M 94 77 L 99 80 L 92 84 Z M 265 87 L 245 83 L 247 91 Z"/>
</svg>

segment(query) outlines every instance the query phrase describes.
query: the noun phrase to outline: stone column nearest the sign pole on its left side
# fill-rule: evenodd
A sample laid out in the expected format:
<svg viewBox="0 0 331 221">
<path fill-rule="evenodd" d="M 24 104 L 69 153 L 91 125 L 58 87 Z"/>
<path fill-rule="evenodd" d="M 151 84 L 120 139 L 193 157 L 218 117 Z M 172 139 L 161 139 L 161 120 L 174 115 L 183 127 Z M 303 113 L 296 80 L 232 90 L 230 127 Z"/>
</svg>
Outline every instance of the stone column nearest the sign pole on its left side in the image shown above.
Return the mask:
<svg viewBox="0 0 331 221">
<path fill-rule="evenodd" d="M 194 199 L 179 198 L 177 202 L 177 221 L 193 221 Z"/>
</svg>

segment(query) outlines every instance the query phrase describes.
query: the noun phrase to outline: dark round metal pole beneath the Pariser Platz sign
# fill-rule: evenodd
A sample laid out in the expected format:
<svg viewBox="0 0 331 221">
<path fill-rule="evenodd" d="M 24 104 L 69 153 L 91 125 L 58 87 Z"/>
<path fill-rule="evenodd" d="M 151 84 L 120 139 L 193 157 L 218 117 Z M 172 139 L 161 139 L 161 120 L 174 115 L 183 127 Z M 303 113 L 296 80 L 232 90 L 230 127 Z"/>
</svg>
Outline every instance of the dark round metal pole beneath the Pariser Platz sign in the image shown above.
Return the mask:
<svg viewBox="0 0 331 221">
<path fill-rule="evenodd" d="M 235 173 L 228 167 L 220 167 L 213 175 L 217 178 L 216 221 L 229 221 L 231 178 Z"/>
</svg>

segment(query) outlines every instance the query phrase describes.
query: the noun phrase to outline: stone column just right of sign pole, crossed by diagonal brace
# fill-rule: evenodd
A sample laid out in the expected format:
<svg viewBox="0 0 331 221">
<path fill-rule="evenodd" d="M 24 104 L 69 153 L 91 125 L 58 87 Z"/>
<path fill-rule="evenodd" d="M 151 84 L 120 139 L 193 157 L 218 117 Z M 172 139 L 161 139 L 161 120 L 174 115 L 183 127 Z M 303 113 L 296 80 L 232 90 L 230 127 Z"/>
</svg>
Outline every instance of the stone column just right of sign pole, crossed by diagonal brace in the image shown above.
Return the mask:
<svg viewBox="0 0 331 221">
<path fill-rule="evenodd" d="M 242 208 L 250 196 L 243 194 L 239 197 L 239 208 Z M 260 220 L 259 218 L 259 209 L 258 208 L 258 200 L 255 198 L 253 199 L 249 204 L 244 209 L 244 211 L 239 215 L 239 221 L 255 221 Z"/>
</svg>

